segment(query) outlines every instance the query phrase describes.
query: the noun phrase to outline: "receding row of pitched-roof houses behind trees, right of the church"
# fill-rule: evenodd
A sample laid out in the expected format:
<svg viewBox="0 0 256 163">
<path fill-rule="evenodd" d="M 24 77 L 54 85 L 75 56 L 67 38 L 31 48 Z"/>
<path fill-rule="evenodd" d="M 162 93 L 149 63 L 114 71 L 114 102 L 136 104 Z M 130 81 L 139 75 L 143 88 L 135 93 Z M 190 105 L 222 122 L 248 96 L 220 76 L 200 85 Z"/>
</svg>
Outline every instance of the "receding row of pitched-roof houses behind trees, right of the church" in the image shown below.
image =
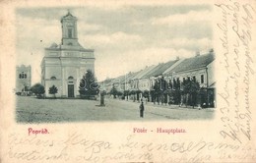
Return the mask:
<svg viewBox="0 0 256 163">
<path fill-rule="evenodd" d="M 168 83 L 190 78 L 198 81 L 202 89 L 207 90 L 209 103 L 215 103 L 214 50 L 204 54 L 196 53 L 194 57 L 168 61 L 159 65 L 148 66 L 138 72 L 128 73 L 115 79 L 100 82 L 100 89 L 110 92 L 114 86 L 118 91 L 139 90 L 144 92 L 154 89 L 157 79 L 163 78 Z M 142 93 L 140 94 L 142 96 Z"/>
</svg>

